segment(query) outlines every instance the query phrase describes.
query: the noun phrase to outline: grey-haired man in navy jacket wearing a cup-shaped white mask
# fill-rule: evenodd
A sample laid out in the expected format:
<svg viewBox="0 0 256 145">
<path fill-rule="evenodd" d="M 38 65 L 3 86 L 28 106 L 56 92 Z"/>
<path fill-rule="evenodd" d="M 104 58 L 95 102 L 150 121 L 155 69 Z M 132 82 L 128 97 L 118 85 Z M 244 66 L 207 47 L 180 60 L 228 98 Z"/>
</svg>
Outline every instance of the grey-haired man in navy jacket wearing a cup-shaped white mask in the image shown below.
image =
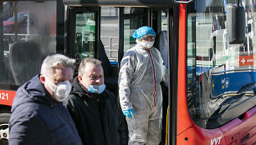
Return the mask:
<svg viewBox="0 0 256 145">
<path fill-rule="evenodd" d="M 9 145 L 82 145 L 63 105 L 73 82 L 74 59 L 44 59 L 41 74 L 18 88 L 10 118 Z"/>
</svg>

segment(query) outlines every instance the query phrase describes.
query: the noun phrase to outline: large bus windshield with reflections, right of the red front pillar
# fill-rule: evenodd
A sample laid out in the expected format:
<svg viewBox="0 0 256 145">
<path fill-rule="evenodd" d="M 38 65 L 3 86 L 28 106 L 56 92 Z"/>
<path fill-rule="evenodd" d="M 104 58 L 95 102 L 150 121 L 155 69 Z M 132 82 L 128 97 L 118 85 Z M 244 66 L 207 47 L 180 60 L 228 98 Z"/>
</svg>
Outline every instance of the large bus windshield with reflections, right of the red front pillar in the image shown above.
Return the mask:
<svg viewBox="0 0 256 145">
<path fill-rule="evenodd" d="M 202 128 L 218 128 L 256 102 L 254 3 L 243 0 L 243 44 L 229 44 L 227 5 L 233 0 L 197 0 L 187 15 L 187 106 Z"/>
</svg>

